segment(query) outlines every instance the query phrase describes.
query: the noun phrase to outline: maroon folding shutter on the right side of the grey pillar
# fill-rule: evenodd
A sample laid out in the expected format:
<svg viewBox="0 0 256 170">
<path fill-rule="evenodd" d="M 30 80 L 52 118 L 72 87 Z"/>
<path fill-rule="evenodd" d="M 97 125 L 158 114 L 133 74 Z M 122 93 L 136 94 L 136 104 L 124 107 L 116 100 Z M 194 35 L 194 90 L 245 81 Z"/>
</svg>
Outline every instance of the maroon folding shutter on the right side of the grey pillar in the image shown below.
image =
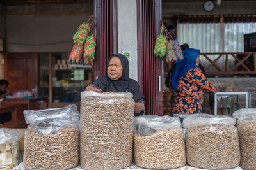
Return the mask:
<svg viewBox="0 0 256 170">
<path fill-rule="evenodd" d="M 138 81 L 145 95 L 146 115 L 163 115 L 163 61 L 154 55 L 161 29 L 162 1 L 137 1 Z"/>
</svg>

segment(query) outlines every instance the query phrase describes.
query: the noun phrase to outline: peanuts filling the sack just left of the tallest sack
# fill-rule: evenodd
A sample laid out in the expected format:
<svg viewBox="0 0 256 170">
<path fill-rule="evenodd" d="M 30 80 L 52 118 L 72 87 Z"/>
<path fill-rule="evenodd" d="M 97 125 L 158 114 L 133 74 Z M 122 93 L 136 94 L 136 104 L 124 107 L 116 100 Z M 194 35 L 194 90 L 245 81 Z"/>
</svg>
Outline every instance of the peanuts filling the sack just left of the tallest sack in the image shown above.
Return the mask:
<svg viewBox="0 0 256 170">
<path fill-rule="evenodd" d="M 79 161 L 79 131 L 62 127 L 47 136 L 38 136 L 36 128 L 27 129 L 24 164 L 28 169 L 70 169 Z"/>
</svg>

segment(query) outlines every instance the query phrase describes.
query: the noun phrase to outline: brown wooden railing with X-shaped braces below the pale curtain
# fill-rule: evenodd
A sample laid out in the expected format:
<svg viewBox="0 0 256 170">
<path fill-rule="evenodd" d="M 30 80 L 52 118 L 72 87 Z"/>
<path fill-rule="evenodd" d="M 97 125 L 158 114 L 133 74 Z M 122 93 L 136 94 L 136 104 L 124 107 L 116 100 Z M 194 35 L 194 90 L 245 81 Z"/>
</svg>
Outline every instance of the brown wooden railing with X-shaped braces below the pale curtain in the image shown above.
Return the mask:
<svg viewBox="0 0 256 170">
<path fill-rule="evenodd" d="M 216 59 L 210 59 L 211 55 L 218 55 Z M 239 55 L 239 56 L 237 56 Z M 243 59 L 241 59 L 243 56 Z M 200 60 L 205 57 L 210 64 L 205 68 L 206 74 L 256 74 L 256 52 L 244 52 L 244 53 L 200 53 Z M 216 61 L 225 57 L 225 69 L 221 69 Z M 236 59 L 236 64 L 234 67 L 229 67 L 229 58 L 234 57 Z M 239 59 L 240 58 L 240 59 Z M 244 63 L 250 58 L 250 63 Z M 249 66 L 250 65 L 250 66 Z M 211 67 L 215 67 L 218 71 L 210 71 Z"/>
</svg>

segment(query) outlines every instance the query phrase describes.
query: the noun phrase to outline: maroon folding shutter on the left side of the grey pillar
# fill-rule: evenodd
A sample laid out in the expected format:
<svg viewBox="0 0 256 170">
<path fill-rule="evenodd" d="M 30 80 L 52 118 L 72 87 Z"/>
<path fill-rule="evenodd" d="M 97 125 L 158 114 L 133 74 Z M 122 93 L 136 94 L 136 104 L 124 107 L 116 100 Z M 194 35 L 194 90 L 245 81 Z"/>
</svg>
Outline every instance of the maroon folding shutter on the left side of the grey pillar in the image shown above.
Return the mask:
<svg viewBox="0 0 256 170">
<path fill-rule="evenodd" d="M 106 76 L 109 55 L 118 52 L 117 0 L 94 0 L 95 39 L 94 80 Z"/>
</svg>

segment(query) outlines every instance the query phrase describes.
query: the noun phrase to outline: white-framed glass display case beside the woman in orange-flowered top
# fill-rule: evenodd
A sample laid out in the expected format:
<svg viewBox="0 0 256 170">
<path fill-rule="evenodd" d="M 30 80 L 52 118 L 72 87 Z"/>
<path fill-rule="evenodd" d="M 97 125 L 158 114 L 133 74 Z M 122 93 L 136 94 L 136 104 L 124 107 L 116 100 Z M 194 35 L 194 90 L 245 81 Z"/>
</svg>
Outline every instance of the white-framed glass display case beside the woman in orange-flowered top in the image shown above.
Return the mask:
<svg viewBox="0 0 256 170">
<path fill-rule="evenodd" d="M 241 108 L 256 107 L 256 92 L 216 92 L 214 115 L 232 115 Z"/>
</svg>

